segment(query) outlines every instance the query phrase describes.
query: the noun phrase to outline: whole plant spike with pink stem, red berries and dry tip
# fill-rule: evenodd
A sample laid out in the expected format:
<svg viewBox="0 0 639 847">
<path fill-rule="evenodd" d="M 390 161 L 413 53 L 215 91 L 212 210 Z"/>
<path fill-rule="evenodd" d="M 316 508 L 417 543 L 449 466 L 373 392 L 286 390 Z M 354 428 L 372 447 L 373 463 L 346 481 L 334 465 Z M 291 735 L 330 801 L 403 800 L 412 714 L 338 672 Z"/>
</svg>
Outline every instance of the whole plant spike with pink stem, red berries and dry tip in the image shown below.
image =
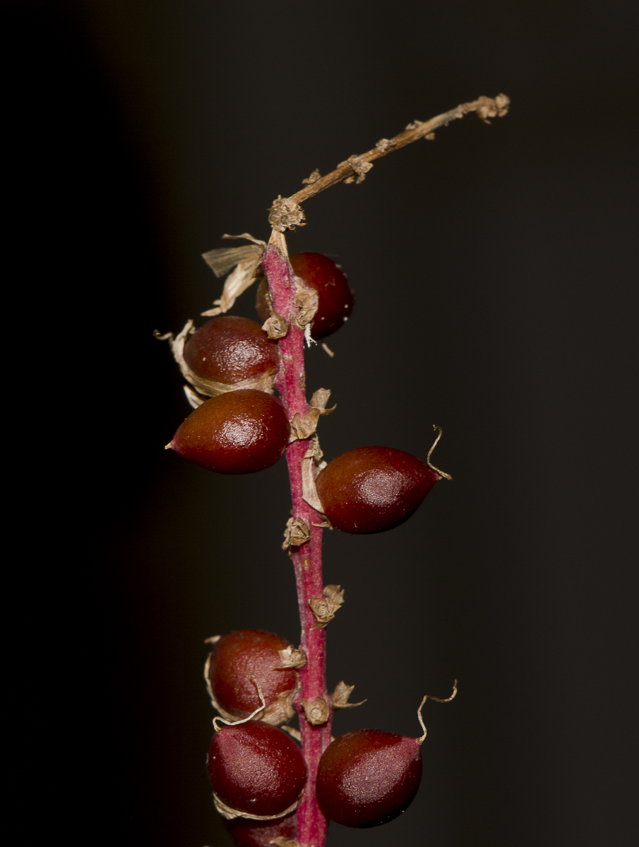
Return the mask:
<svg viewBox="0 0 639 847">
<path fill-rule="evenodd" d="M 203 313 L 213 319 L 200 329 L 189 321 L 175 338 L 156 334 L 169 340 L 193 407 L 168 447 L 219 473 L 253 473 L 285 454 L 291 482 L 292 517 L 283 547 L 297 583 L 299 647 L 262 630 L 209 639 L 214 646 L 205 678 L 221 717 L 214 718 L 208 775 L 236 844 L 324 847 L 329 819 L 376 826 L 413 800 L 425 729 L 420 739 L 374 729 L 331 737 L 334 712 L 359 704 L 349 702 L 353 686 L 340 683 L 331 694 L 325 687 L 326 626 L 344 592 L 323 583 L 321 540 L 326 529 L 392 529 L 410 518 L 438 480 L 450 479 L 431 464 L 432 447 L 425 461 L 384 446 L 323 460 L 316 430 L 319 418 L 332 411 L 330 391 L 318 388 L 307 401 L 304 348 L 342 327 L 353 293 L 331 259 L 313 252 L 289 257 L 284 233 L 303 225 L 301 204 L 319 191 L 338 182 L 361 183 L 373 162 L 389 152 L 432 138 L 470 112 L 489 123 L 508 105 L 504 95 L 480 97 L 409 124 L 330 174 L 315 170 L 301 191 L 273 203 L 268 243 L 247 233 L 226 235 L 249 243 L 204 254 L 216 276 L 229 274 L 214 308 Z M 261 326 L 226 314 L 256 280 Z M 456 693 L 455 686 L 453 695 L 439 701 Z M 296 713 L 298 731 L 288 726 Z"/>
</svg>

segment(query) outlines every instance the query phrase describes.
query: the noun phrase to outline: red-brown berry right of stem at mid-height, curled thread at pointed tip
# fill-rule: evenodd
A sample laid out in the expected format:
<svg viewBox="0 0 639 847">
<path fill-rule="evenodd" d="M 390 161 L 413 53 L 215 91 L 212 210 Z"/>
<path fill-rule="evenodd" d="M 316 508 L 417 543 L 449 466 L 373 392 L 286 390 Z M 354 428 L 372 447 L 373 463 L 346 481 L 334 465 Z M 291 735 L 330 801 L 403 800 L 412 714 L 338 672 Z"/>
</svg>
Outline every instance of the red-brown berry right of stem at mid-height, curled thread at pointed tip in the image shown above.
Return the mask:
<svg viewBox="0 0 639 847">
<path fill-rule="evenodd" d="M 357 447 L 329 462 L 315 484 L 336 529 L 370 534 L 408 520 L 437 479 L 428 465 L 403 450 Z"/>
</svg>

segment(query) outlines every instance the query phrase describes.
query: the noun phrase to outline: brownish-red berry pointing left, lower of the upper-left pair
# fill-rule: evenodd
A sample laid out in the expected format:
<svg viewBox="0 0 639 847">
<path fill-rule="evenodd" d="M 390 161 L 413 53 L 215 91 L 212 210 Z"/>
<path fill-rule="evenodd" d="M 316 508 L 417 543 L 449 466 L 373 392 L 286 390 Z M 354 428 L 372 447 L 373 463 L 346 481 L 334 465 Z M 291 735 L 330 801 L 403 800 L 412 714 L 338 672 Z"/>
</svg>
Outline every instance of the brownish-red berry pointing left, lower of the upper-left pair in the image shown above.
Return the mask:
<svg viewBox="0 0 639 847">
<path fill-rule="evenodd" d="M 277 462 L 290 431 L 279 400 L 242 388 L 203 402 L 181 424 L 170 446 L 210 471 L 253 473 Z"/>
</svg>

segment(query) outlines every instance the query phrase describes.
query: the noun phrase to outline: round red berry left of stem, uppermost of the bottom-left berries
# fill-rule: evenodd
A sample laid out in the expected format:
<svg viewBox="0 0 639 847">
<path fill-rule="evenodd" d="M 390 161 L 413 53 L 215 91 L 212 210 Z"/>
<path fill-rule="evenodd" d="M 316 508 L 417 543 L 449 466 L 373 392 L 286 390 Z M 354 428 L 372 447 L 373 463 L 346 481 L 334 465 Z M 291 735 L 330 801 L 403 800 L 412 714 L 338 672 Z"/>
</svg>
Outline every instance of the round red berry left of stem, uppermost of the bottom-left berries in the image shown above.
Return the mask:
<svg viewBox="0 0 639 847">
<path fill-rule="evenodd" d="M 238 718 L 258 709 L 261 701 L 252 674 L 267 706 L 277 700 L 278 694 L 294 689 L 295 671 L 274 670 L 281 664 L 278 650 L 290 646 L 281 635 L 264 629 L 238 629 L 223 635 L 208 661 L 208 681 L 219 706 Z"/>
</svg>

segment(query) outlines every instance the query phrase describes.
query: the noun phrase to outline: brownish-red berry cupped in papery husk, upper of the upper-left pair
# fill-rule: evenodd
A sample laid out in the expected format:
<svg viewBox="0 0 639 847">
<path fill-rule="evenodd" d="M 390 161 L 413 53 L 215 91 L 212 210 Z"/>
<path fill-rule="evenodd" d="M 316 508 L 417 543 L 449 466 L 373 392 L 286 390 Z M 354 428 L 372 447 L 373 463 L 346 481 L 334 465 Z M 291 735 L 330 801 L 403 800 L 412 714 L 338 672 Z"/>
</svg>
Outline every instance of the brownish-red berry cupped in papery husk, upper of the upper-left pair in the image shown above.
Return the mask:
<svg viewBox="0 0 639 847">
<path fill-rule="evenodd" d="M 203 324 L 186 341 L 184 359 L 200 379 L 235 385 L 275 374 L 280 367 L 276 341 L 257 321 L 223 315 Z"/>
</svg>

